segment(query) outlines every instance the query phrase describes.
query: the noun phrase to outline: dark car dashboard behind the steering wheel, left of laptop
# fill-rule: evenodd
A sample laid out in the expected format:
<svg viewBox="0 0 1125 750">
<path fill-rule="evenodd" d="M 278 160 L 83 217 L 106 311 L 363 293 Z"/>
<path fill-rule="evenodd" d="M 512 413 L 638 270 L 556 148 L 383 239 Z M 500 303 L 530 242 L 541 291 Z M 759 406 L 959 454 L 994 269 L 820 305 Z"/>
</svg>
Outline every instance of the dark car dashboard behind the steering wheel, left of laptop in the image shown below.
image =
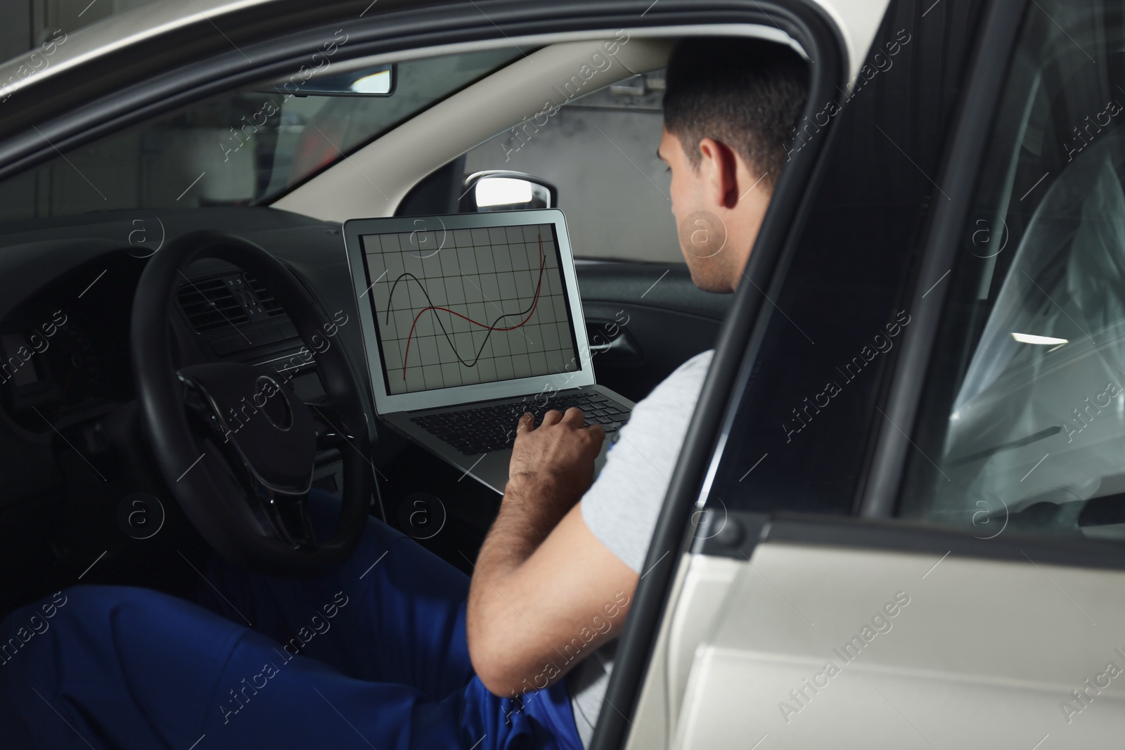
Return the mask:
<svg viewBox="0 0 1125 750">
<path fill-rule="evenodd" d="M 156 229 L 137 245 L 138 222 Z M 0 224 L 0 507 L 63 486 L 108 482 L 133 470 L 107 434 L 135 415 L 129 324 L 147 257 L 192 231 L 227 232 L 272 253 L 321 300 L 325 315 L 354 318 L 340 226 L 260 207 L 129 211 Z M 252 277 L 223 261 L 186 269 L 169 305 L 177 367 L 234 361 L 266 371 L 296 368 L 304 400 L 323 395 L 315 359 L 288 315 Z M 362 362 L 358 326 L 340 329 Z M 357 370 L 367 385 L 366 370 Z M 370 390 L 364 388 L 374 439 Z M 360 424 L 363 419 L 360 419 Z M 89 476 L 80 476 L 93 470 Z M 91 479 L 92 477 L 92 479 Z"/>
</svg>

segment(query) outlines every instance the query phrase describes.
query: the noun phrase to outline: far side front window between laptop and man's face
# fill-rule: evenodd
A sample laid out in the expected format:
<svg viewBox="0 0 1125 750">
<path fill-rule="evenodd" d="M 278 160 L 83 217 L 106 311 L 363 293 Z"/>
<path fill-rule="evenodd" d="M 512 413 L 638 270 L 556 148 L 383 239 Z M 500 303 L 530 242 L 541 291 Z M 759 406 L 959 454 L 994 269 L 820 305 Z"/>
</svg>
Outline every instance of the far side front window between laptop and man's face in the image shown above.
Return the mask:
<svg viewBox="0 0 1125 750">
<path fill-rule="evenodd" d="M 554 114 L 531 116 L 469 151 L 466 174 L 512 170 L 554 183 L 579 257 L 683 263 L 672 178 L 656 156 L 664 71 L 585 96 L 564 93 L 573 99 Z"/>
</svg>

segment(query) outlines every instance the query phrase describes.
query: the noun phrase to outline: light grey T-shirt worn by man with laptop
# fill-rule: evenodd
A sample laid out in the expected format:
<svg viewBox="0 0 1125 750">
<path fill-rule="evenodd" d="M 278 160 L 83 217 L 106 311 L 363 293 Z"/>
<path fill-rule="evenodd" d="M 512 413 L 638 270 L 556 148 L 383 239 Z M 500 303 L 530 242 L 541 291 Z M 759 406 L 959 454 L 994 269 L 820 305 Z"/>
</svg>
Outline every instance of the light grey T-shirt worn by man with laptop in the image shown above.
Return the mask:
<svg viewBox="0 0 1125 750">
<path fill-rule="evenodd" d="M 713 353 L 681 364 L 633 408 L 597 480 L 582 498 L 586 526 L 638 573 Z M 608 642 L 566 676 L 583 747 L 593 738 L 616 645 L 616 639 Z"/>
</svg>

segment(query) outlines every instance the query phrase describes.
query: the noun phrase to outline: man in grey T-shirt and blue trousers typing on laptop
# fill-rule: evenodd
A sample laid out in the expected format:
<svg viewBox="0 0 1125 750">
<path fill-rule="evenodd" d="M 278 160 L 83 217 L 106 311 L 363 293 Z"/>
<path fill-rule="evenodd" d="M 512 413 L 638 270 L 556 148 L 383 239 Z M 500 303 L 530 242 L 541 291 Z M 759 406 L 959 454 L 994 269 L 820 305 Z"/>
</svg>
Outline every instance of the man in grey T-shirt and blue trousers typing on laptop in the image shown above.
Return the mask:
<svg viewBox="0 0 1125 750">
<path fill-rule="evenodd" d="M 738 287 L 807 76 L 773 43 L 701 38 L 673 53 L 658 154 L 702 289 Z M 352 559 L 320 579 L 210 560 L 207 609 L 79 586 L 12 613 L 0 623 L 0 744 L 580 750 L 710 355 L 637 405 L 596 482 L 600 426 L 577 409 L 538 428 L 525 415 L 471 581 L 371 519 Z M 309 495 L 325 533 L 331 498 Z"/>
</svg>

